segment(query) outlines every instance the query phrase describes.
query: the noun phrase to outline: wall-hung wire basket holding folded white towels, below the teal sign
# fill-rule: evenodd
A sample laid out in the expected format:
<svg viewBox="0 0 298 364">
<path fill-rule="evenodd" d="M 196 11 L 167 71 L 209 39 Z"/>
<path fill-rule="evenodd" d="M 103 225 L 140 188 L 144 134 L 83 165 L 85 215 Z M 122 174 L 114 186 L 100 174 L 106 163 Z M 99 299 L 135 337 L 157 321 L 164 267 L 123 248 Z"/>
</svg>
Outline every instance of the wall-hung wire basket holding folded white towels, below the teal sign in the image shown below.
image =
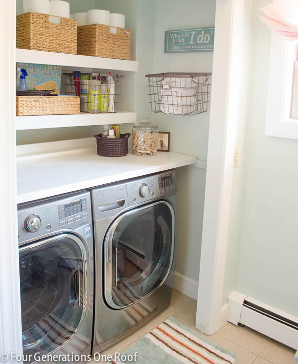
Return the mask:
<svg viewBox="0 0 298 364">
<path fill-rule="evenodd" d="M 206 112 L 211 74 L 180 72 L 146 74 L 151 111 L 184 116 Z"/>
</svg>

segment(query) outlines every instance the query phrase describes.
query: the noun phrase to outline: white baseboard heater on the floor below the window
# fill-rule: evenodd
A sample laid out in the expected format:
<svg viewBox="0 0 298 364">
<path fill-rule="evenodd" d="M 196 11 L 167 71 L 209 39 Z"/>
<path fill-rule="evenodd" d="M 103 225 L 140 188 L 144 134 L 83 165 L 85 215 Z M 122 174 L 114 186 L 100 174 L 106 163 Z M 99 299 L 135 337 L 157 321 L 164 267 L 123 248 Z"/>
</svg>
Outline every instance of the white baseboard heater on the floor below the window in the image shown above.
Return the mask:
<svg viewBox="0 0 298 364">
<path fill-rule="evenodd" d="M 228 321 L 243 324 L 298 350 L 298 317 L 232 291 L 228 297 Z"/>
</svg>

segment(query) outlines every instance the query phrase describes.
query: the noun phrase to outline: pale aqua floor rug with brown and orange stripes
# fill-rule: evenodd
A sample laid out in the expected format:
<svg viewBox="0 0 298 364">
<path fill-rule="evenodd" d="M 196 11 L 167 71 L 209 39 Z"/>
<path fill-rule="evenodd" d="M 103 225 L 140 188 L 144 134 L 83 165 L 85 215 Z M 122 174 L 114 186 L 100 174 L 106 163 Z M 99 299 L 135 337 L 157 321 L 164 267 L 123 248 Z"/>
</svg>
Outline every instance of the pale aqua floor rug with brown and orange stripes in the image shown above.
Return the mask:
<svg viewBox="0 0 298 364">
<path fill-rule="evenodd" d="M 130 356 L 134 356 L 136 352 L 137 360 L 133 363 L 139 364 L 233 364 L 237 360 L 236 355 L 172 316 L 136 341 L 111 363 L 132 363 Z"/>
</svg>

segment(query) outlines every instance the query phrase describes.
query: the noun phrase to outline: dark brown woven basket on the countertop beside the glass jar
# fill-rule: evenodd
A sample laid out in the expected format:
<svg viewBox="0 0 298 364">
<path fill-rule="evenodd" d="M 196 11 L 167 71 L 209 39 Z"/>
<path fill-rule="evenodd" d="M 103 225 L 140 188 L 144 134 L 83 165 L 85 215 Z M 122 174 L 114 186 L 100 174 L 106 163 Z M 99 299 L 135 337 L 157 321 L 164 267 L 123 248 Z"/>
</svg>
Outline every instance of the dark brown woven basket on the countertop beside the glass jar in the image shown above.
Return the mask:
<svg viewBox="0 0 298 364">
<path fill-rule="evenodd" d="M 97 154 L 102 157 L 123 157 L 128 154 L 128 138 L 130 133 L 120 134 L 120 138 L 102 138 L 101 134 L 96 138 Z"/>
</svg>

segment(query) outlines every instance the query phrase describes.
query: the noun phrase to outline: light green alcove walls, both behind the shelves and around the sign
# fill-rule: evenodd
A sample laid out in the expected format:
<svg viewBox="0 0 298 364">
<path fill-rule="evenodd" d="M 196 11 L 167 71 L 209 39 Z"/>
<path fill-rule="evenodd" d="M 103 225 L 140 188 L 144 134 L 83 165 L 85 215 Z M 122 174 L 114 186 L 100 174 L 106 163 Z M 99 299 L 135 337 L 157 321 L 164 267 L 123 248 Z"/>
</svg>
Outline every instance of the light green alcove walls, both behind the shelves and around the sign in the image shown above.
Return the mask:
<svg viewBox="0 0 298 364">
<path fill-rule="evenodd" d="M 73 2 L 73 1 L 71 1 Z M 82 2 L 77 2 L 80 6 Z M 126 15 L 126 26 L 132 29 L 132 59 L 139 61 L 135 88 L 135 110 L 138 120 L 149 117 L 160 131 L 171 133 L 171 151 L 207 159 L 209 110 L 192 117 L 152 114 L 148 96 L 147 73 L 212 72 L 213 53 L 164 54 L 164 31 L 212 26 L 216 0 L 95 0 L 95 8 L 109 9 Z M 74 11 L 72 9 L 72 11 Z M 81 11 L 81 8 L 75 10 Z M 18 132 L 18 143 L 36 143 L 89 137 L 101 127 L 62 128 L 47 131 Z M 123 132 L 131 125 L 123 125 Z M 177 170 L 178 225 L 175 270 L 198 280 L 203 224 L 206 171 L 194 167 Z"/>
</svg>

